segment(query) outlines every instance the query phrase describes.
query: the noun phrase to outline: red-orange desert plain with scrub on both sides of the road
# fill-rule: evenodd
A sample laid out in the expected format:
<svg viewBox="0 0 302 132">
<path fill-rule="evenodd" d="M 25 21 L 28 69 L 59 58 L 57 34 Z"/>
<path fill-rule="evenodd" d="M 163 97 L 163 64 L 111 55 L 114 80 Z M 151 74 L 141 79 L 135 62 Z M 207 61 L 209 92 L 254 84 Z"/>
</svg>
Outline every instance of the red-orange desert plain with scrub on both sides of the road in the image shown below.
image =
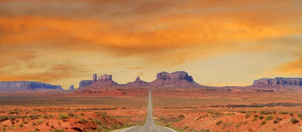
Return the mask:
<svg viewBox="0 0 302 132">
<path fill-rule="evenodd" d="M 302 130 L 302 89 L 232 87 L 2 92 L 0 129 L 121 131 L 145 123 L 149 89 L 155 124 L 176 131 Z"/>
</svg>

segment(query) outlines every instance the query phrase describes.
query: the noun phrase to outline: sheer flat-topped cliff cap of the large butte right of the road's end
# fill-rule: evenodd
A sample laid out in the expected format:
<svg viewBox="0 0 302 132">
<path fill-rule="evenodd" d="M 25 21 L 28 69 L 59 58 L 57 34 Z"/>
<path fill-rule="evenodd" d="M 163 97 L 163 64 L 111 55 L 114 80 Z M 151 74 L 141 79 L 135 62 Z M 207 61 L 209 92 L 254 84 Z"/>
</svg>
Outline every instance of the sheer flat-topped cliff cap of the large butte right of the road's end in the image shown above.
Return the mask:
<svg viewBox="0 0 302 132">
<path fill-rule="evenodd" d="M 188 80 L 188 81 L 193 81 L 192 76 L 189 76 L 187 72 L 185 71 L 176 71 L 176 72 L 172 72 L 172 73 L 168 73 L 168 72 L 161 72 L 158 73 L 156 76 L 156 79 L 175 79 L 175 80 Z"/>
</svg>

